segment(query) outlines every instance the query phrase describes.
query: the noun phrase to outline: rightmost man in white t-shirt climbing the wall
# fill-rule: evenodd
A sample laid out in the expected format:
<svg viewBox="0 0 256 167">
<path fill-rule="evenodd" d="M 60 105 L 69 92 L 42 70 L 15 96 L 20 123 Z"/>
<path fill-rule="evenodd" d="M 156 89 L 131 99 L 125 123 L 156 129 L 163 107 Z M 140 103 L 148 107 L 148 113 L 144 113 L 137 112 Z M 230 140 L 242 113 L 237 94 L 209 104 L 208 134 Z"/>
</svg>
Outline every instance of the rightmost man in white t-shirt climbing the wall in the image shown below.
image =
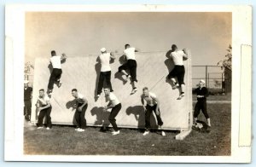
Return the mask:
<svg viewBox="0 0 256 167">
<path fill-rule="evenodd" d="M 177 98 L 178 100 L 182 99 L 184 94 L 184 75 L 185 75 L 185 68 L 183 66 L 183 59 L 188 59 L 188 53 L 186 49 L 183 50 L 177 50 L 177 46 L 175 44 L 172 44 L 172 50 L 171 50 L 171 58 L 174 63 L 174 68 L 172 69 L 172 72 L 170 72 L 167 76 L 168 79 L 172 80 L 173 87 L 172 89 L 176 89 L 177 87 L 181 87 L 181 94 Z M 176 79 L 177 78 L 177 81 Z"/>
</svg>

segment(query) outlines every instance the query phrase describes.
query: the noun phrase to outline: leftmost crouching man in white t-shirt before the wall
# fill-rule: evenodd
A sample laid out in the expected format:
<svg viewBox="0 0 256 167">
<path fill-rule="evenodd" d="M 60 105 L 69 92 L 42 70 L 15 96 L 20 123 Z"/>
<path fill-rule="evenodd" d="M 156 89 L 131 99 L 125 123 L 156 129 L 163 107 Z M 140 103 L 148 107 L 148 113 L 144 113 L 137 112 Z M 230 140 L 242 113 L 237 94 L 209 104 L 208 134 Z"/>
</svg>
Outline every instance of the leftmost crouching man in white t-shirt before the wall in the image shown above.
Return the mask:
<svg viewBox="0 0 256 167">
<path fill-rule="evenodd" d="M 44 117 L 46 116 L 46 130 L 51 129 L 51 118 L 50 118 L 50 112 L 51 112 L 51 105 L 49 102 L 49 97 L 47 95 L 44 95 L 44 89 L 39 89 L 39 96 L 38 96 L 38 102 L 37 102 L 37 110 L 38 110 L 38 129 L 43 128 L 43 121 Z"/>
</svg>

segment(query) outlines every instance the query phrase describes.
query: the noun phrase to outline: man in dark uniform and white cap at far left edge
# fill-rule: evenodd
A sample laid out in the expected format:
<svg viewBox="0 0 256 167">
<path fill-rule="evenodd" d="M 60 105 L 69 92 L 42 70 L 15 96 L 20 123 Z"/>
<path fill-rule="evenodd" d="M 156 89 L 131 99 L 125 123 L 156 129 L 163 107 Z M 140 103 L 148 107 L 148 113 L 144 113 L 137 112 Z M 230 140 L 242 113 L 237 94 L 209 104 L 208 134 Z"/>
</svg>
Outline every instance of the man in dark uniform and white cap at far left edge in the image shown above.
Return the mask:
<svg viewBox="0 0 256 167">
<path fill-rule="evenodd" d="M 29 87 L 28 83 L 28 80 L 24 81 L 24 116 L 26 121 L 30 121 L 32 107 L 32 87 Z"/>
</svg>

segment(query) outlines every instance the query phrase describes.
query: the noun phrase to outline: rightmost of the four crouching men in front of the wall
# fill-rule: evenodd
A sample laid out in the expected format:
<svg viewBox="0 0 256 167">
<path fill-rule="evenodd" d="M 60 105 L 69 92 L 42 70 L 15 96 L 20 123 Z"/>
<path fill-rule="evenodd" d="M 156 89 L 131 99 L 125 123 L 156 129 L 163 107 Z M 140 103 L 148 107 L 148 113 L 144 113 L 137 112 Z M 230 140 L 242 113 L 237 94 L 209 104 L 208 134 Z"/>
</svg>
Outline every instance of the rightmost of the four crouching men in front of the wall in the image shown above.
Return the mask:
<svg viewBox="0 0 256 167">
<path fill-rule="evenodd" d="M 143 135 L 148 135 L 149 133 L 149 129 L 150 129 L 150 117 L 152 112 L 154 111 L 156 119 L 157 119 L 157 123 L 160 126 L 160 130 L 161 130 L 161 126 L 164 124 L 161 117 L 160 117 L 160 101 L 158 100 L 158 98 L 156 97 L 156 95 L 154 95 L 154 93 L 149 92 L 148 88 L 145 87 L 143 88 L 143 95 L 141 95 L 141 101 L 143 104 L 143 108 L 146 111 L 145 112 L 145 132 L 143 133 Z M 144 106 L 144 101 L 147 102 L 147 105 Z M 162 135 L 165 136 L 166 133 L 162 130 Z"/>
</svg>

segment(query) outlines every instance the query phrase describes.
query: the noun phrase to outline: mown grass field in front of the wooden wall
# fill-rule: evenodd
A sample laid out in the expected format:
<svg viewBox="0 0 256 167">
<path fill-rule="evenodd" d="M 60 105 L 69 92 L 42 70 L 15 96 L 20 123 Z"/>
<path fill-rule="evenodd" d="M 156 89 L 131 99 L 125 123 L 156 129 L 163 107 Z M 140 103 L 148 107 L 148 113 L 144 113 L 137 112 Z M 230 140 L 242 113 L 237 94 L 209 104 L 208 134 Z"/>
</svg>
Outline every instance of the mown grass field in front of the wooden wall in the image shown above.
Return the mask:
<svg viewBox="0 0 256 167">
<path fill-rule="evenodd" d="M 76 132 L 70 126 L 53 126 L 52 130 L 24 128 L 24 153 L 36 155 L 230 155 L 231 106 L 208 104 L 212 119 L 210 133 L 195 130 L 183 140 L 174 139 L 177 132 L 149 133 L 140 130 L 121 129 L 119 135 L 100 132 L 100 128 L 88 127 Z M 206 121 L 202 113 L 199 117 Z M 172 120 L 170 120 L 172 121 Z"/>
</svg>

